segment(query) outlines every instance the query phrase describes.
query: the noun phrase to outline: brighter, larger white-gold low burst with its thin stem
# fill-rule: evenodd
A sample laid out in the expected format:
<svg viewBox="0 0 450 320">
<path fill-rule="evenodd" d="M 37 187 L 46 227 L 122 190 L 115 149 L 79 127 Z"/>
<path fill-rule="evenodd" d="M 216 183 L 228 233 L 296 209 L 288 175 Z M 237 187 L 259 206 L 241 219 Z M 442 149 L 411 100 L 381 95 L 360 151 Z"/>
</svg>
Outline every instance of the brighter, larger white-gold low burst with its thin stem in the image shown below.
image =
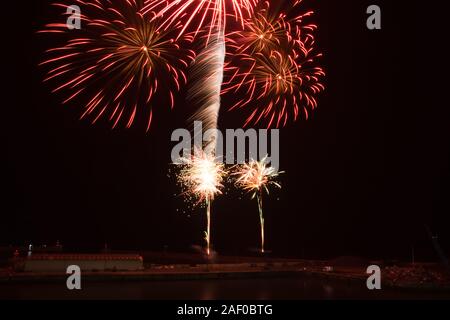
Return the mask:
<svg viewBox="0 0 450 320">
<path fill-rule="evenodd" d="M 180 159 L 182 169 L 178 181 L 186 189 L 184 194 L 206 205 L 207 228 L 205 232 L 206 253 L 211 254 L 211 205 L 222 194 L 222 182 L 226 176 L 224 165 L 210 153 L 196 149 L 194 155 Z"/>
</svg>

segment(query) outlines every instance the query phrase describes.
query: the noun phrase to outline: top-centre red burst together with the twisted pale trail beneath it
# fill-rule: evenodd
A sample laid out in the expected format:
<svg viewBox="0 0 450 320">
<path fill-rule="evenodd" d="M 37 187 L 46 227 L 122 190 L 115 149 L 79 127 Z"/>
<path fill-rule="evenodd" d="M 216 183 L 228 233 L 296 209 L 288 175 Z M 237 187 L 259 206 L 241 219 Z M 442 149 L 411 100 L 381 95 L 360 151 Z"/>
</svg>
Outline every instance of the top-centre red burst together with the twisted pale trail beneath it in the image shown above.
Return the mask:
<svg viewBox="0 0 450 320">
<path fill-rule="evenodd" d="M 198 110 L 191 120 L 192 122 L 202 121 L 204 132 L 217 129 L 226 54 L 227 20 L 234 17 L 234 20 L 243 28 L 244 19 L 253 14 L 253 8 L 257 2 L 258 0 L 145 1 L 142 12 L 157 12 L 155 18 L 161 18 L 164 21 L 159 26 L 161 30 L 179 26 L 178 36 L 186 34 L 194 39 L 200 35 L 201 40 L 205 40 L 204 48 L 192 66 L 193 84 L 189 92 L 190 101 L 196 104 Z M 211 138 L 217 141 L 217 137 Z M 206 147 L 215 154 L 215 143 Z"/>
</svg>

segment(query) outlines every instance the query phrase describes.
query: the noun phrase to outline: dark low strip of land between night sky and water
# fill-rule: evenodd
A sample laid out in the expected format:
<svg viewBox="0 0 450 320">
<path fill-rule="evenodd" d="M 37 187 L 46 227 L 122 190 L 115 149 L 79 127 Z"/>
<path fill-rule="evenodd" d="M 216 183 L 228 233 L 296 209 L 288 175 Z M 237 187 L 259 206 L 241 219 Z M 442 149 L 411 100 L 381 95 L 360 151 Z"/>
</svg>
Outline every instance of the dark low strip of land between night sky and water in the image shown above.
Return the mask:
<svg viewBox="0 0 450 320">
<path fill-rule="evenodd" d="M 179 281 L 205 279 L 250 279 L 309 276 L 321 279 L 364 282 L 369 265 L 382 268 L 384 287 L 450 292 L 450 275 L 434 263 L 367 261 L 340 257 L 331 261 L 283 259 L 267 256 L 232 257 L 197 253 L 144 252 L 144 270 L 83 273 L 89 281 Z M 9 260 L 11 262 L 11 260 Z M 66 279 L 64 273 L 30 273 L 14 270 L 3 261 L 0 283 L 52 282 Z"/>
</svg>

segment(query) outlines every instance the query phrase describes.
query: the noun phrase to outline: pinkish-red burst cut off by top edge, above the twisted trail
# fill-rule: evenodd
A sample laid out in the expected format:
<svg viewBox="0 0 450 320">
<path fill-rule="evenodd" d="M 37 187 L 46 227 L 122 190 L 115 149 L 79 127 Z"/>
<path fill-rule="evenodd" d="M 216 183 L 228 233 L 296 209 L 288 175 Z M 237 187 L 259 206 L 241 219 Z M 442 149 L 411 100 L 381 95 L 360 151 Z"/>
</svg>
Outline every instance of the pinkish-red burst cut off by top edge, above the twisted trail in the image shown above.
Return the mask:
<svg viewBox="0 0 450 320">
<path fill-rule="evenodd" d="M 226 30 L 227 17 L 234 16 L 243 27 L 243 21 L 250 16 L 258 0 L 146 0 L 143 12 L 157 11 L 156 17 L 164 17 L 161 28 L 167 30 L 181 25 L 180 35 L 187 30 L 195 34 L 205 26 L 209 36 Z"/>
</svg>

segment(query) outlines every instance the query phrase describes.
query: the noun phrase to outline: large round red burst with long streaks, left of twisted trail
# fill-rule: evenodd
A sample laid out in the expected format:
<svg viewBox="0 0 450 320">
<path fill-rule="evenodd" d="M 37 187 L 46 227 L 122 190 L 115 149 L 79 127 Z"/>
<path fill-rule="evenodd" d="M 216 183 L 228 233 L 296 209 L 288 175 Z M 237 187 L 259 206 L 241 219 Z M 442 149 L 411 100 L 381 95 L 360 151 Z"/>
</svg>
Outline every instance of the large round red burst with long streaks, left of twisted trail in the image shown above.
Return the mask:
<svg viewBox="0 0 450 320">
<path fill-rule="evenodd" d="M 174 93 L 187 81 L 184 69 L 195 56 L 180 45 L 187 39 L 175 40 L 177 28 L 159 31 L 160 21 L 140 12 L 140 0 L 70 4 L 81 8 L 80 30 L 53 23 L 40 31 L 62 41 L 46 51 L 40 64 L 49 68 L 44 82 L 56 83 L 52 92 L 64 93 L 64 103 L 82 102 L 82 119 L 96 123 L 104 117 L 113 128 L 121 123 L 130 128 L 137 117 L 144 117 L 148 131 L 155 100 L 173 108 Z M 66 12 L 68 4 L 55 6 Z"/>
</svg>

